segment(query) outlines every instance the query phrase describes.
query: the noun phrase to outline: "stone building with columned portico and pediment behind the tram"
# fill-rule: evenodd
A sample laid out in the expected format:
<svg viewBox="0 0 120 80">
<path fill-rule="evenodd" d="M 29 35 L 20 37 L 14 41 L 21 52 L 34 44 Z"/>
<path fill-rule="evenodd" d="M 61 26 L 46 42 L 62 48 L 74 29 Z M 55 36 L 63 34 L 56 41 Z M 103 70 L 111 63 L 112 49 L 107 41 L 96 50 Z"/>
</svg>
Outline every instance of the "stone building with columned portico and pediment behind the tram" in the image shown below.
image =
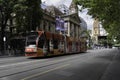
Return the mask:
<svg viewBox="0 0 120 80">
<path fill-rule="evenodd" d="M 65 31 L 62 32 L 62 34 L 66 34 L 67 36 L 70 36 L 74 39 L 80 38 L 81 20 L 78 15 L 78 7 L 73 1 L 68 8 L 65 5 L 60 5 L 59 7 L 53 5 L 44 5 L 43 11 L 44 16 L 43 20 L 41 21 L 39 28 L 40 30 L 50 31 L 53 33 L 61 33 L 60 31 L 56 30 L 55 23 L 56 16 L 59 16 L 64 20 Z M 49 15 L 47 15 L 47 13 Z"/>
</svg>

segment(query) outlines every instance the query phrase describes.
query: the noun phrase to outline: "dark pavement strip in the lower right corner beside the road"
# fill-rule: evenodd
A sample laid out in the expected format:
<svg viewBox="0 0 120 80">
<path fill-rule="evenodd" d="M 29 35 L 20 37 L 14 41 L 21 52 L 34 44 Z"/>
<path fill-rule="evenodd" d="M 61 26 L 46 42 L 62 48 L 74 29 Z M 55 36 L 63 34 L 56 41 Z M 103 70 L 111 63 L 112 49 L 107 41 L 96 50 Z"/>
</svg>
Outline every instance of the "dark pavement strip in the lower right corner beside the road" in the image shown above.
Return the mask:
<svg viewBox="0 0 120 80">
<path fill-rule="evenodd" d="M 116 50 L 115 54 L 100 80 L 120 80 L 120 50 Z"/>
</svg>

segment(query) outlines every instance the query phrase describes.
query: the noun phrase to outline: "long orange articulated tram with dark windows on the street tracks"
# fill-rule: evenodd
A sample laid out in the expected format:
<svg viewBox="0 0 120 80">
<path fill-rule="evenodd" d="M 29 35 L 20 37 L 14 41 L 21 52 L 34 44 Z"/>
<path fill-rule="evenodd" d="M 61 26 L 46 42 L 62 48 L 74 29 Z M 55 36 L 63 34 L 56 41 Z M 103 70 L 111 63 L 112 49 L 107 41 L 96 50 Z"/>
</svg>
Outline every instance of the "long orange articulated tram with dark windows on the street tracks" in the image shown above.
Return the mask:
<svg viewBox="0 0 120 80">
<path fill-rule="evenodd" d="M 37 31 L 26 37 L 25 56 L 45 57 L 86 52 L 86 41 L 57 33 Z"/>
</svg>

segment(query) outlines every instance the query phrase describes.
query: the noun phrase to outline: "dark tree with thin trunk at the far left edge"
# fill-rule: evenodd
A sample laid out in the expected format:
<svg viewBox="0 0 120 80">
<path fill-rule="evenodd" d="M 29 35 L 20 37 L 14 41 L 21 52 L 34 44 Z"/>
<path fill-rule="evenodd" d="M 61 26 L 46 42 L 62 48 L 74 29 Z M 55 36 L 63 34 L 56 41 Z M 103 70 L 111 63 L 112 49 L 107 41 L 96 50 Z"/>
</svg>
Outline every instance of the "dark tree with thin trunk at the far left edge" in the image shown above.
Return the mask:
<svg viewBox="0 0 120 80">
<path fill-rule="evenodd" d="M 13 6 L 15 5 L 15 3 L 16 0 L 0 0 L 1 50 L 4 50 L 3 38 L 5 36 L 5 28 L 7 26 L 8 20 L 11 17 L 11 13 L 13 12 Z"/>
</svg>

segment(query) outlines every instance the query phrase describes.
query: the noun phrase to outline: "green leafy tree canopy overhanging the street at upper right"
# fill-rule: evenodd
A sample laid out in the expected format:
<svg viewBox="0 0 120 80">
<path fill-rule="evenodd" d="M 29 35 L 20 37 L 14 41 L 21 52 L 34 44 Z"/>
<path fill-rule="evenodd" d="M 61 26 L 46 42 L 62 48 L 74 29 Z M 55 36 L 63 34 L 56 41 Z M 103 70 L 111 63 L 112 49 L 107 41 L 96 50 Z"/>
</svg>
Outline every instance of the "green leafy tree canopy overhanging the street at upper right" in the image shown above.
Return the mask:
<svg viewBox="0 0 120 80">
<path fill-rule="evenodd" d="M 111 38 L 120 42 L 120 1 L 119 0 L 74 0 L 82 5 L 82 9 L 88 8 L 88 14 L 99 19 Z"/>
</svg>

